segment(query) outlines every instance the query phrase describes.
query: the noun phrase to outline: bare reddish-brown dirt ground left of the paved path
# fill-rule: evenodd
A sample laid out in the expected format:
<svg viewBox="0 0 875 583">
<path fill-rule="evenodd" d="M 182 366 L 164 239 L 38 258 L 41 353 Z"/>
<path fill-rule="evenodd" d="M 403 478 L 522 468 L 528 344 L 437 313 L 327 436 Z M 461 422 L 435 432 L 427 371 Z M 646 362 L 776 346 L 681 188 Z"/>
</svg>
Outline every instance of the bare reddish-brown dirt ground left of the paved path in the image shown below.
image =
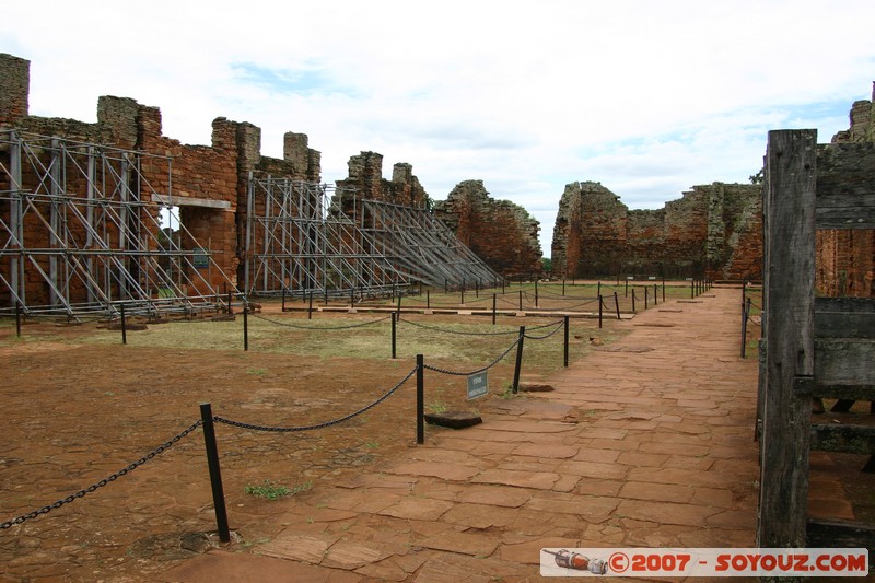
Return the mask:
<svg viewBox="0 0 875 583">
<path fill-rule="evenodd" d="M 301 314 L 278 312 L 266 306 L 271 317 L 306 322 Z M 374 316 L 337 317 L 349 322 Z M 451 320 L 470 317 L 444 318 Z M 581 327 L 596 329 L 595 323 L 575 323 Z M 249 351 L 240 346 L 215 350 L 196 348 L 197 339 L 187 348 L 138 346 L 138 334 L 147 333 L 129 331 L 128 346 L 121 346 L 118 330 L 96 323 L 28 323 L 22 339 L 10 322 L 0 327 L 5 421 L 0 439 L 1 520 L 52 504 L 136 463 L 196 423 L 201 403 L 210 403 L 213 415 L 236 421 L 306 425 L 373 403 L 416 364 L 409 353 L 392 360 L 291 354 L 258 346 Z M 586 331 L 576 336 L 581 338 L 572 338 L 572 358 L 590 342 L 583 338 Z M 561 346 L 561 335 L 556 338 Z M 207 339 L 202 343 L 209 345 Z M 435 364 L 471 369 L 469 363 L 454 366 L 452 358 Z M 486 399 L 500 399 L 513 375 L 513 355 L 489 374 L 492 393 Z M 429 406 L 470 409 L 459 383 L 464 378 L 428 373 Z M 279 433 L 217 424 L 237 544 L 257 541 L 259 513 L 273 503 L 247 494 L 247 486 L 270 480 L 288 488 L 315 488 L 322 480 L 413 447 L 415 392 L 411 377 L 380 406 L 318 431 Z M 214 530 L 203 433 L 198 428 L 117 480 L 0 530 L 0 581 L 148 580 L 150 573 L 207 550 L 215 535 L 205 533 Z"/>
</svg>

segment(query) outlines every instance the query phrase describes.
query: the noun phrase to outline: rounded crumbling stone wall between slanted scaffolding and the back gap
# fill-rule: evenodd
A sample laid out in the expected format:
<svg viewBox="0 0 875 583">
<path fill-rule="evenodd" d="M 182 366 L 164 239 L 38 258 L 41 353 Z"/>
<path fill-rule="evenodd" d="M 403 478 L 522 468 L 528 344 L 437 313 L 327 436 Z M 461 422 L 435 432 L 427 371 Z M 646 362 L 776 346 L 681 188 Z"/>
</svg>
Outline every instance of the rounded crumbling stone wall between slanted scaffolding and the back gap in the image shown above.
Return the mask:
<svg viewBox="0 0 875 583">
<path fill-rule="evenodd" d="M 541 271 L 540 223 L 523 207 L 494 200 L 482 180 L 456 185 L 434 214 L 492 269 L 505 277 Z"/>
</svg>

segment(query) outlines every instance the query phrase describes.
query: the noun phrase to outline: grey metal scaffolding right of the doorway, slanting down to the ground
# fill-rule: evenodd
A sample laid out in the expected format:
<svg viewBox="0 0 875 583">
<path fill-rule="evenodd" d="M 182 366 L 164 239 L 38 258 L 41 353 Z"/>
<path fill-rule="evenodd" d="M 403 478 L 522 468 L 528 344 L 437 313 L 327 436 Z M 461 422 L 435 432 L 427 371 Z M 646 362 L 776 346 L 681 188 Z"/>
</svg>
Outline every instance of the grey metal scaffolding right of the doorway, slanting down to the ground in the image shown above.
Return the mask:
<svg viewBox="0 0 875 583">
<path fill-rule="evenodd" d="M 415 282 L 501 280 L 425 209 L 324 184 L 249 175 L 245 289 L 255 295 L 381 296 Z"/>
</svg>

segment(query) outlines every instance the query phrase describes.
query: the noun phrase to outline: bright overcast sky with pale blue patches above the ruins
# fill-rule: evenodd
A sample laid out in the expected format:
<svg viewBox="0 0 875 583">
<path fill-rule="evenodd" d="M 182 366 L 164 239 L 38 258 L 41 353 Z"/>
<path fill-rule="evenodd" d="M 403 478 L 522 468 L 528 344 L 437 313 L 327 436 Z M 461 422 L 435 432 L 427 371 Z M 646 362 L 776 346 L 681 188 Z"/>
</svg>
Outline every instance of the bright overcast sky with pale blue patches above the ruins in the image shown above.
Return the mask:
<svg viewBox="0 0 875 583">
<path fill-rule="evenodd" d="M 541 223 L 564 186 L 630 208 L 748 182 L 770 129 L 849 126 L 872 96 L 875 1 L 441 0 L 8 2 L 0 51 L 31 60 L 31 114 L 96 121 L 100 95 L 161 108 L 164 135 L 211 121 L 322 152 L 408 162 L 432 198 L 482 179 Z"/>
</svg>

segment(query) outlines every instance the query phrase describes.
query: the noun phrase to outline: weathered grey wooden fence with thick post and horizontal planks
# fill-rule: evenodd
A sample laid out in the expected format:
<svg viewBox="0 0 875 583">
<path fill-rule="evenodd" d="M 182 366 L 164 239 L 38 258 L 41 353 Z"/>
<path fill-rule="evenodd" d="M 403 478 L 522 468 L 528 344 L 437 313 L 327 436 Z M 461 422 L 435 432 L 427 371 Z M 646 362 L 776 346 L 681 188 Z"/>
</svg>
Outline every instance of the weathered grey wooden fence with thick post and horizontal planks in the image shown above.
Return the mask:
<svg viewBox="0 0 875 583">
<path fill-rule="evenodd" d="M 814 397 L 875 400 L 875 301 L 815 298 L 817 229 L 875 229 L 875 143 L 769 132 L 757 433 L 760 547 L 875 547 L 875 525 L 807 516 L 808 454 L 875 453 L 875 427 L 812 423 Z"/>
</svg>

